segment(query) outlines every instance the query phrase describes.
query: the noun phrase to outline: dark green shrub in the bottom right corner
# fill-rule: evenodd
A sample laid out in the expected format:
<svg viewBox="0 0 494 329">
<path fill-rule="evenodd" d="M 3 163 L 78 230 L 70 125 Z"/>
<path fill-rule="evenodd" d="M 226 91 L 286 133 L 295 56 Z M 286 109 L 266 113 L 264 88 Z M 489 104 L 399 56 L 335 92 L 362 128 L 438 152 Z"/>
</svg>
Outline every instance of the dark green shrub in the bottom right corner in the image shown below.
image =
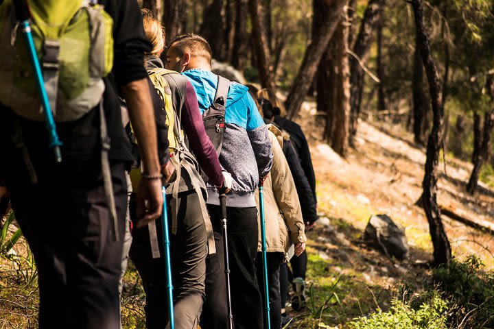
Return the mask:
<svg viewBox="0 0 494 329">
<path fill-rule="evenodd" d="M 494 326 L 494 273 L 485 272 L 476 256 L 464 262 L 456 259 L 445 267 L 432 271 L 438 288 L 451 301 L 451 322 L 464 323 L 468 328 Z"/>
</svg>

